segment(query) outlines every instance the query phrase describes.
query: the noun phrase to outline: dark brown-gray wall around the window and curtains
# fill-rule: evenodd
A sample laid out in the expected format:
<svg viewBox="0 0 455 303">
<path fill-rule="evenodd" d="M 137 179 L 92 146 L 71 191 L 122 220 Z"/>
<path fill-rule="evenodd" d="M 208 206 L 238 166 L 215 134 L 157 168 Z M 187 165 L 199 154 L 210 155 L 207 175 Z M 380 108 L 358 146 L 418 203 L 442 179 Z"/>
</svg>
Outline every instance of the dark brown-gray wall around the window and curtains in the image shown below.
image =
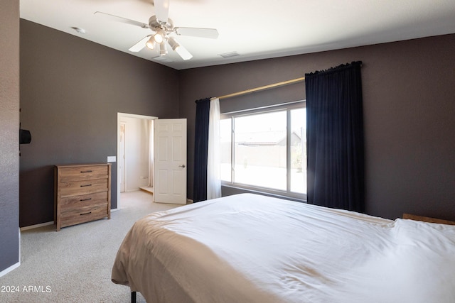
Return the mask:
<svg viewBox="0 0 455 303">
<path fill-rule="evenodd" d="M 194 101 L 363 61 L 366 210 L 455 220 L 455 35 L 370 45 L 179 73 L 188 119 L 188 197 L 193 196 Z M 221 111 L 304 99 L 304 83 L 220 101 Z M 223 194 L 232 189 L 223 189 Z"/>
</svg>

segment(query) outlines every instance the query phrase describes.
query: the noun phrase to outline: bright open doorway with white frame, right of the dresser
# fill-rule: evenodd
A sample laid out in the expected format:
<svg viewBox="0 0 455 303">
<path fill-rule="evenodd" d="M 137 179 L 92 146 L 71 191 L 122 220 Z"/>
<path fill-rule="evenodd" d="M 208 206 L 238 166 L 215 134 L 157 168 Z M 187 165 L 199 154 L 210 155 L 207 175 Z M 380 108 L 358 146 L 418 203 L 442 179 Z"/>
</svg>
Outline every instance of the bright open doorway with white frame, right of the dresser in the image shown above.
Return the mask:
<svg viewBox="0 0 455 303">
<path fill-rule="evenodd" d="M 121 192 L 153 188 L 153 133 L 158 117 L 117 113 L 117 209 Z"/>
</svg>

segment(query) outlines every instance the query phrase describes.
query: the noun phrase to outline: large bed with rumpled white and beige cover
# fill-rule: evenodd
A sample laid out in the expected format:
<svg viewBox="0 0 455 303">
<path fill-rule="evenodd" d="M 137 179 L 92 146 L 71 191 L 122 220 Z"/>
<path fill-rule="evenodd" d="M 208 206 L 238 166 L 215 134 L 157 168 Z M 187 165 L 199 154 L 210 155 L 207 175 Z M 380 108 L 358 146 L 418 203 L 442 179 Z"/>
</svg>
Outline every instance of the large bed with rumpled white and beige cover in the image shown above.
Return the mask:
<svg viewBox="0 0 455 303">
<path fill-rule="evenodd" d="M 258 194 L 149 214 L 112 282 L 147 302 L 455 302 L 455 226 Z"/>
</svg>

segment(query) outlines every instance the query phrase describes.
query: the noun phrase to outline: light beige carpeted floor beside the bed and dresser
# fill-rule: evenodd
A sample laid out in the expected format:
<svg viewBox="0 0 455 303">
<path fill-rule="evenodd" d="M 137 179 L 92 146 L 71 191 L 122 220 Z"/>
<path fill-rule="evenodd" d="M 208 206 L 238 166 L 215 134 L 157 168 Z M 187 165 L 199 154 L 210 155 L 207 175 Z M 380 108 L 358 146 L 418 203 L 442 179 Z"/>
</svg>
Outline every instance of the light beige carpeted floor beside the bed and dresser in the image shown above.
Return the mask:
<svg viewBox="0 0 455 303">
<path fill-rule="evenodd" d="M 151 202 L 144 191 L 122 193 L 111 219 L 55 231 L 21 232 L 21 266 L 0 277 L 0 302 L 130 302 L 129 287 L 111 282 L 117 249 L 142 216 L 176 204 Z M 145 302 L 138 294 L 137 302 Z"/>
</svg>

